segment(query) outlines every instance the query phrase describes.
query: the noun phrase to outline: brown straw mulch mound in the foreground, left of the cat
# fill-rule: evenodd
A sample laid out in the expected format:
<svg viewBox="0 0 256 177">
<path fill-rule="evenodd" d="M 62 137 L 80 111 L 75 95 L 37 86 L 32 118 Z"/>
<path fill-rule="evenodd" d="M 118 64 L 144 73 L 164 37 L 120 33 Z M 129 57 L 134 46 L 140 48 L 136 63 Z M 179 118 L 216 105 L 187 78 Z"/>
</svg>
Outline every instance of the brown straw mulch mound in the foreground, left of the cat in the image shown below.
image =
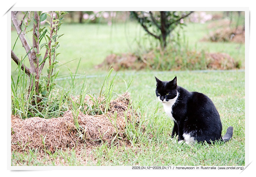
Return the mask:
<svg viewBox="0 0 256 177">
<path fill-rule="evenodd" d="M 101 142 L 129 143 L 125 127 L 127 121 L 136 121 L 137 114 L 134 114 L 131 111 L 130 96 L 125 93 L 111 101 L 110 109 L 105 115 L 92 116 L 80 112 L 75 118 L 79 124 L 78 129 L 70 110 L 63 117 L 52 119 L 33 117 L 21 120 L 12 115 L 11 150 L 26 151 L 35 148 L 54 152 L 56 149 L 84 144 L 95 146 Z"/>
</svg>

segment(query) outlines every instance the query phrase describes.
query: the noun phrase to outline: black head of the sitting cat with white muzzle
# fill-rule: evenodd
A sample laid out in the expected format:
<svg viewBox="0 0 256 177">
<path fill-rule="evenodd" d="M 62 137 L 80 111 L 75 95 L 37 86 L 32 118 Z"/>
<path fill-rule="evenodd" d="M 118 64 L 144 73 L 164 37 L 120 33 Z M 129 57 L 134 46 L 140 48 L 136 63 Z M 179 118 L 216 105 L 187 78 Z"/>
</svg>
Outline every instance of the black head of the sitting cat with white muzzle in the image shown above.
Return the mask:
<svg viewBox="0 0 256 177">
<path fill-rule="evenodd" d="M 168 102 L 177 96 L 177 77 L 172 81 L 161 81 L 156 76 L 156 96 L 161 102 Z"/>
</svg>

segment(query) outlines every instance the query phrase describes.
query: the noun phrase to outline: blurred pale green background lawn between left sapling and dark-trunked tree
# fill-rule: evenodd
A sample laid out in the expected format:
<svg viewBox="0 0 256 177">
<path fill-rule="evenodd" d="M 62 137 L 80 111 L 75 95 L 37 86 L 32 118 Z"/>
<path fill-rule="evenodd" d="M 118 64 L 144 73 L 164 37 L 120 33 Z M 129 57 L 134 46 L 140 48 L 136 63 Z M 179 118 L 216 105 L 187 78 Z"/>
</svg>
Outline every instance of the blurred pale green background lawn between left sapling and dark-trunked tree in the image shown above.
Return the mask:
<svg viewBox="0 0 256 177">
<path fill-rule="evenodd" d="M 58 55 L 59 65 L 69 62 L 58 68 L 60 75 L 69 74 L 67 67 L 74 73 L 80 58 L 81 64 L 77 74 L 94 73 L 94 66 L 102 63 L 107 55 L 134 51 L 138 42 L 143 43 L 143 40 L 146 40 L 143 29 L 138 24 L 131 22 L 113 26 L 107 24 L 63 24 L 59 34 L 64 34 L 58 40 L 60 42 L 58 53 L 61 53 Z M 28 36 L 30 37 L 30 35 L 31 32 Z M 12 31 L 11 47 L 17 37 L 16 31 Z M 19 39 L 13 52 L 17 53 L 20 58 L 22 55 L 26 55 Z M 12 61 L 12 74 L 15 73 L 16 67 Z"/>
</svg>

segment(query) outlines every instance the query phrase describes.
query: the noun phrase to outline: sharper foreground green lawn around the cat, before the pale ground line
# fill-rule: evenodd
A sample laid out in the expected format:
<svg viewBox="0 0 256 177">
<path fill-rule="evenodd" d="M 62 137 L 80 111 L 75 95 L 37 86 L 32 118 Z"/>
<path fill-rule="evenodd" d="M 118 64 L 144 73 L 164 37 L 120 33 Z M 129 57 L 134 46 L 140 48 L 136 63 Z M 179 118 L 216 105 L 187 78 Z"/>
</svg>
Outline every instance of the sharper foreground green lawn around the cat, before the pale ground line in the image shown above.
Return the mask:
<svg viewBox="0 0 256 177">
<path fill-rule="evenodd" d="M 234 127 L 232 140 L 212 146 L 174 144 L 170 141 L 173 121 L 167 117 L 163 106 L 156 101 L 154 75 L 162 80 L 171 80 L 176 75 L 180 86 L 208 95 L 220 113 L 222 134 L 226 133 L 229 126 Z M 123 80 L 128 81 L 131 77 L 133 81 L 128 91 L 134 106 L 143 109 L 145 114 L 142 119 L 146 125 L 144 134 L 130 125 L 129 130 L 133 129 L 132 134 L 135 135 L 131 147 L 108 147 L 103 143 L 99 147 L 86 147 L 90 152 L 80 155 L 75 155 L 74 149 L 59 150 L 51 155 L 34 151 L 12 152 L 12 165 L 245 165 L 244 72 L 118 72 L 113 91 L 117 94 L 124 93 L 126 86 Z M 99 82 L 104 79 L 88 78 L 91 93 L 99 93 Z M 143 97 L 143 100 L 140 101 L 139 97 Z M 131 132 L 128 131 L 129 133 Z"/>
</svg>

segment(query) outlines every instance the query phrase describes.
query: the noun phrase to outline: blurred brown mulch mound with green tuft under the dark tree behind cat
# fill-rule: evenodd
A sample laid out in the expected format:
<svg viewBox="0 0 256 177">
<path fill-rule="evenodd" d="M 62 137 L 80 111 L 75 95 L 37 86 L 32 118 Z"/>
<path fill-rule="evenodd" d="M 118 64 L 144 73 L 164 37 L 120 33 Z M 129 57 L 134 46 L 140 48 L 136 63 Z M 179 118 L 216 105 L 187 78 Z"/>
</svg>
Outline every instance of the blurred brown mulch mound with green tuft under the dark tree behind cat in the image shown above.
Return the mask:
<svg viewBox="0 0 256 177">
<path fill-rule="evenodd" d="M 184 51 L 172 56 L 176 51 L 157 53 L 151 50 L 142 55 L 131 53 L 116 55 L 111 54 L 96 68 L 116 71 L 121 69 L 157 69 L 157 70 L 186 70 L 186 69 L 237 69 L 240 67 L 234 58 L 225 53 L 200 53 Z"/>
</svg>

